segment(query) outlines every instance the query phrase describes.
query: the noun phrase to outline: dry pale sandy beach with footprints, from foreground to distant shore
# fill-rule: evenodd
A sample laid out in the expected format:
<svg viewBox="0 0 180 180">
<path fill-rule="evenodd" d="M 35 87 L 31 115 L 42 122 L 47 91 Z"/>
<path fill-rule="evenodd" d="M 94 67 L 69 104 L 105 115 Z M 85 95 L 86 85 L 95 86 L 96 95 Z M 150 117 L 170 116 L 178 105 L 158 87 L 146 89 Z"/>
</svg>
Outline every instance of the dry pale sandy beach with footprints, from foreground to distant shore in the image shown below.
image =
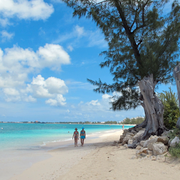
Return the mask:
<svg viewBox="0 0 180 180">
<path fill-rule="evenodd" d="M 136 150 L 113 146 L 122 131 L 86 140 L 84 147 L 59 148 L 11 180 L 179 180 L 180 161 L 136 159 Z"/>
</svg>

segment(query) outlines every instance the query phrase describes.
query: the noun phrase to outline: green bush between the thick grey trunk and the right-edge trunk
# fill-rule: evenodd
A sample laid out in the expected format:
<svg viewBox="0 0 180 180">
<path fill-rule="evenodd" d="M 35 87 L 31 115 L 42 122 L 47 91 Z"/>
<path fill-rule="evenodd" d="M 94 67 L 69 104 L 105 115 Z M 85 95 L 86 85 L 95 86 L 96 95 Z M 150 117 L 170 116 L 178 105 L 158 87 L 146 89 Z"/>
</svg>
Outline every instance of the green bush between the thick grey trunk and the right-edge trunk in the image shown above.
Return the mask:
<svg viewBox="0 0 180 180">
<path fill-rule="evenodd" d="M 178 117 L 180 116 L 178 107 L 178 98 L 175 93 L 172 92 L 171 88 L 169 91 L 163 91 L 159 94 L 164 105 L 164 125 L 168 129 L 173 129 L 176 126 Z"/>
</svg>

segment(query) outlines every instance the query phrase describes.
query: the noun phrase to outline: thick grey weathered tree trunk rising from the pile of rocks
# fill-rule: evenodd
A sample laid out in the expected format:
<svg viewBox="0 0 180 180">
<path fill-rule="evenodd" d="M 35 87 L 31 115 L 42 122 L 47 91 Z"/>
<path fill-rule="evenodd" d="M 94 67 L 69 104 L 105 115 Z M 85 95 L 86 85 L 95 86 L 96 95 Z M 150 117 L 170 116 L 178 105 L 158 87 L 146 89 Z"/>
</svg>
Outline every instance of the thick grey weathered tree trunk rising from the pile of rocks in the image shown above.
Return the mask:
<svg viewBox="0 0 180 180">
<path fill-rule="evenodd" d="M 154 92 L 156 84 L 157 82 L 153 80 L 153 75 L 144 77 L 139 82 L 141 100 L 143 101 L 141 105 L 144 108 L 145 120 L 133 129 L 142 127 L 145 128 L 145 132 L 143 136 L 129 146 L 130 148 L 135 148 L 138 142 L 148 139 L 151 135 L 160 136 L 166 130 L 163 119 L 164 106 Z"/>
</svg>

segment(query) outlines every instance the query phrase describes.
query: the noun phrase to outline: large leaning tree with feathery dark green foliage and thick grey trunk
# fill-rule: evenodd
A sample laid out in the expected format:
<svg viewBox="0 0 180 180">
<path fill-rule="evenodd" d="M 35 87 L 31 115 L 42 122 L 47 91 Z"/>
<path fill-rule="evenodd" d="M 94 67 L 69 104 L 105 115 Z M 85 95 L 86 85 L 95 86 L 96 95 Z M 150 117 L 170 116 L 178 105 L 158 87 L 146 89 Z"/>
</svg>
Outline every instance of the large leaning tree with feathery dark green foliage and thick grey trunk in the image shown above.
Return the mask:
<svg viewBox="0 0 180 180">
<path fill-rule="evenodd" d="M 113 97 L 113 110 L 128 110 L 142 105 L 145 127 L 141 139 L 160 135 L 163 105 L 155 94 L 155 86 L 173 81 L 178 40 L 180 37 L 180 6 L 171 4 L 170 12 L 163 11 L 168 0 L 63 0 L 74 9 L 74 16 L 86 16 L 96 22 L 108 42 L 102 52 L 113 83 L 89 80 L 96 92 L 121 92 Z M 169 5 L 168 5 L 169 7 Z M 139 86 L 138 86 L 139 85 Z M 140 91 L 139 91 L 140 89 Z"/>
</svg>

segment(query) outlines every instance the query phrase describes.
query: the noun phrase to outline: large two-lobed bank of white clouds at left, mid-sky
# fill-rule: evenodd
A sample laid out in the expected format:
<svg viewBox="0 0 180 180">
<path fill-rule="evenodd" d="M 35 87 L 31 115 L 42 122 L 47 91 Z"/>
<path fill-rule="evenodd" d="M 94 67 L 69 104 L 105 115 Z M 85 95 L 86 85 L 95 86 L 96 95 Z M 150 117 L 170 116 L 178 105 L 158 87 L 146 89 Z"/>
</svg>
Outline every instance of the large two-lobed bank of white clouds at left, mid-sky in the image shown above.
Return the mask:
<svg viewBox="0 0 180 180">
<path fill-rule="evenodd" d="M 59 45 L 46 44 L 35 52 L 18 46 L 0 49 L 0 88 L 7 102 L 35 102 L 38 98 L 49 99 L 50 105 L 65 105 L 63 94 L 68 92 L 65 82 L 56 77 L 45 79 L 41 75 L 29 81 L 30 73 L 43 68 L 59 70 L 62 64 L 69 64 L 70 57 Z"/>
</svg>

